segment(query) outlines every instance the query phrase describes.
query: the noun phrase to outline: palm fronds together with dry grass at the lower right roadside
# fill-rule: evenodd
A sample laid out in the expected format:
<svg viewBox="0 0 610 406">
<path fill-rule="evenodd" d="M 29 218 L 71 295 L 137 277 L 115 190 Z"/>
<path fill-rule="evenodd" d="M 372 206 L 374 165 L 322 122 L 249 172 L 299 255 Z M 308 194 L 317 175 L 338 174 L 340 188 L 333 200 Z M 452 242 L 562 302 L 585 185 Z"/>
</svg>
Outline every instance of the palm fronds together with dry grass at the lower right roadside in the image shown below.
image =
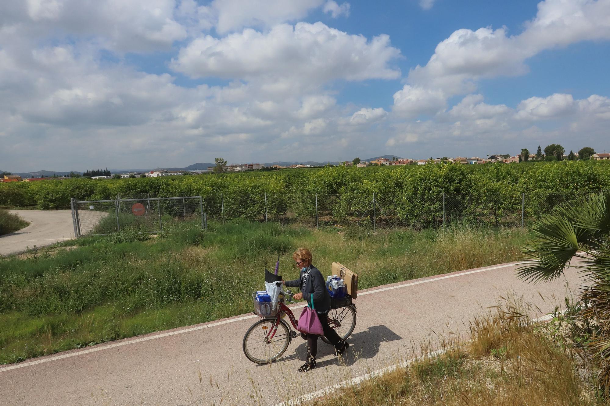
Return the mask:
<svg viewBox="0 0 610 406">
<path fill-rule="evenodd" d="M 517 307 L 470 323 L 470 341 L 312 405 L 606 405 L 610 397 L 610 196 L 560 207 L 531 227 L 518 276 L 545 282 L 576 266 L 576 302 L 548 324 Z"/>
</svg>

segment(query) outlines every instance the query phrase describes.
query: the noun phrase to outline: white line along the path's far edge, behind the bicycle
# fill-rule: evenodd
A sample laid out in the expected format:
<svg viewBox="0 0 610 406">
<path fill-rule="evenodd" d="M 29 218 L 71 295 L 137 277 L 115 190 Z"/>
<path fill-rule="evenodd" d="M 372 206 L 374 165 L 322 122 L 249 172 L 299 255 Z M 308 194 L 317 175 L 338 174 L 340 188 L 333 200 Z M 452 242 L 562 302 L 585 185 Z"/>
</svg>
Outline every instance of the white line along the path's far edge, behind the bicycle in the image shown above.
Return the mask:
<svg viewBox="0 0 610 406">
<path fill-rule="evenodd" d="M 509 266 L 520 265 L 522 263 L 523 262 L 517 262 L 517 263 L 509 263 L 506 265 L 489 266 L 487 268 L 475 269 L 474 271 L 458 272 L 453 275 L 440 276 L 440 277 L 431 278 L 431 279 L 419 280 L 417 282 L 403 283 L 402 285 L 362 292 L 362 293 L 359 293 L 358 296 L 364 296 L 365 294 L 378 293 L 378 292 L 383 292 L 386 290 L 409 287 L 412 285 L 419 285 L 420 283 L 435 282 L 436 280 L 449 279 L 449 278 L 454 278 L 454 277 L 458 277 L 458 276 L 462 276 L 462 275 L 474 274 L 477 272 L 492 271 L 493 269 L 507 268 Z M 293 308 L 293 307 L 299 307 L 301 305 L 303 305 L 303 304 L 298 304 L 298 305 L 289 306 L 289 307 Z M 110 348 L 122 347 L 122 346 L 126 346 L 127 344 L 142 343 L 143 341 L 150 341 L 150 340 L 155 340 L 156 338 L 169 337 L 170 335 L 184 334 L 184 333 L 188 333 L 188 332 L 192 332 L 192 331 L 196 331 L 196 330 L 203 330 L 203 329 L 207 329 L 209 327 L 221 326 L 223 324 L 229 324 L 229 323 L 232 323 L 235 321 L 242 321 L 242 320 L 251 319 L 251 318 L 255 318 L 255 317 L 258 317 L 258 316 L 256 316 L 256 315 L 242 316 L 242 317 L 237 317 L 234 319 L 213 322 L 210 324 L 206 324 L 204 326 L 190 327 L 188 329 L 182 329 L 182 330 L 177 330 L 177 331 L 172 331 L 172 332 L 167 332 L 167 333 L 160 333 L 160 334 L 151 335 L 148 337 L 134 338 L 134 340 L 120 341 L 119 343 L 113 343 L 113 344 L 108 344 L 105 346 L 88 348 L 88 349 L 84 349 L 81 351 L 68 352 L 67 354 L 55 355 L 54 357 L 41 358 L 41 359 L 32 360 L 32 361 L 24 361 L 24 362 L 20 362 L 20 363 L 14 364 L 14 365 L 5 366 L 4 368 L 0 368 L 0 372 L 10 371 L 11 369 L 17 369 L 17 368 L 25 368 L 26 366 L 37 365 L 37 364 L 46 363 L 46 362 L 50 362 L 50 361 L 62 360 L 63 358 L 76 357 L 77 355 L 90 354 L 91 352 L 103 351 L 103 350 L 110 349 Z"/>
</svg>

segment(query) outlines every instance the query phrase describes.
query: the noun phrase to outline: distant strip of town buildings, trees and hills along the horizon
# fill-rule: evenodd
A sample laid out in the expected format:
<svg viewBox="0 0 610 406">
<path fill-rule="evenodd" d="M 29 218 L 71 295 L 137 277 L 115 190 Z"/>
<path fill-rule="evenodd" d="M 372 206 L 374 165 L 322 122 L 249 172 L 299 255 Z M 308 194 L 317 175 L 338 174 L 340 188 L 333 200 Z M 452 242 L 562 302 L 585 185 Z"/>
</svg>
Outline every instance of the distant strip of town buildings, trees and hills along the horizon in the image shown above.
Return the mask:
<svg viewBox="0 0 610 406">
<path fill-rule="evenodd" d="M 554 145 L 554 144 L 553 144 Z M 557 145 L 559 146 L 559 145 Z M 561 146 L 559 146 L 561 148 Z M 208 173 L 235 173 L 235 172 L 246 172 L 246 171 L 273 171 L 279 169 L 288 168 L 320 168 L 323 166 L 357 166 L 358 168 L 365 168 L 366 166 L 381 166 L 381 165 L 426 165 L 427 163 L 456 163 L 463 165 L 479 165 L 485 163 L 518 163 L 527 161 L 548 161 L 548 160 L 564 160 L 563 149 L 559 151 L 550 151 L 548 147 L 545 148 L 547 154 L 542 154 L 540 147 L 536 154 L 529 154 L 527 149 L 522 150 L 522 154 L 511 156 L 509 154 L 492 154 L 487 155 L 486 158 L 479 157 L 442 157 L 442 158 L 428 158 L 413 160 L 409 158 L 399 158 L 393 156 L 392 158 L 378 157 L 371 160 L 360 160 L 360 158 L 354 158 L 351 161 L 339 162 L 337 165 L 326 164 L 326 165 L 305 165 L 297 163 L 295 165 L 264 165 L 260 163 L 237 163 L 232 165 L 226 165 L 226 161 L 222 158 L 217 158 L 216 166 L 208 166 L 207 169 L 195 169 L 195 170 L 169 170 L 169 169 L 154 169 L 145 172 L 129 172 L 129 173 L 110 173 L 108 169 L 92 169 L 85 171 L 84 173 L 65 174 L 63 176 L 42 176 L 42 177 L 23 177 L 18 174 L 12 174 L 8 172 L 0 173 L 0 182 L 37 182 L 40 180 L 48 179 L 72 179 L 74 177 L 88 177 L 91 179 L 124 179 L 124 178 L 136 178 L 136 177 L 162 177 L 162 176 L 185 176 L 185 175 L 201 175 Z M 580 153 L 580 155 L 579 155 Z M 575 153 L 570 151 L 570 154 L 565 155 L 567 160 L 578 160 L 578 159 L 591 159 L 591 160 L 610 160 L 610 154 L 606 152 L 595 153 L 592 148 L 583 148 Z"/>
</svg>

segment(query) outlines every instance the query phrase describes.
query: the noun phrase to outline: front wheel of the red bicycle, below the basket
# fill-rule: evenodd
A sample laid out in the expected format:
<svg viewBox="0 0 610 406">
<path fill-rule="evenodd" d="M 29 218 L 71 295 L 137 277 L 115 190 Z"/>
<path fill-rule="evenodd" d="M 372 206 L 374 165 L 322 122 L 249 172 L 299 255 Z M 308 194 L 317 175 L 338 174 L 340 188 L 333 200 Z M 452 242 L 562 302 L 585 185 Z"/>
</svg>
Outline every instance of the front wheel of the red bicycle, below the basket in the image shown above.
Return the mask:
<svg viewBox="0 0 610 406">
<path fill-rule="evenodd" d="M 243 354 L 257 364 L 267 364 L 284 354 L 290 344 L 290 328 L 280 320 L 273 338 L 267 338 L 276 319 L 262 319 L 254 323 L 243 337 Z"/>
</svg>

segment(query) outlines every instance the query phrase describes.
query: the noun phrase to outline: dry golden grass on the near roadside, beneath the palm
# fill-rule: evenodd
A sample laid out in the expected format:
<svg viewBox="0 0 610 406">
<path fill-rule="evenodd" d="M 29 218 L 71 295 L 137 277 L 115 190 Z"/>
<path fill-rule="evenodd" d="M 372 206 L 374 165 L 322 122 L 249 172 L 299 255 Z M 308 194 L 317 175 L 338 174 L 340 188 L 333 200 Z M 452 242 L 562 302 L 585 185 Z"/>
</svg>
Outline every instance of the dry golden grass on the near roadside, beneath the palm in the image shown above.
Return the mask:
<svg viewBox="0 0 610 406">
<path fill-rule="evenodd" d="M 595 365 L 575 340 L 586 340 L 573 314 L 539 324 L 515 307 L 470 322 L 468 341 L 443 341 L 439 355 L 420 356 L 310 406 L 605 405 Z"/>
</svg>

